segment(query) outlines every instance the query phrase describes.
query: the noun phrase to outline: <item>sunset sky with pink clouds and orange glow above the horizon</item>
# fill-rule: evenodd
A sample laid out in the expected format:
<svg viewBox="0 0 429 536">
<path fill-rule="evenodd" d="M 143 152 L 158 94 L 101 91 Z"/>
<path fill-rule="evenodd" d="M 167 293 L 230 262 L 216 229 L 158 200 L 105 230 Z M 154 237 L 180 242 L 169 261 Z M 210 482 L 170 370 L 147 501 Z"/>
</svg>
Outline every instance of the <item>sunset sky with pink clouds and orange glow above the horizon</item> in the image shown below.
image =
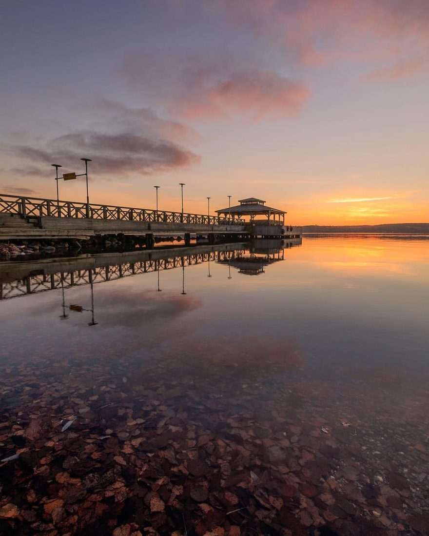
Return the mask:
<svg viewBox="0 0 429 536">
<path fill-rule="evenodd" d="M 3 2 L 0 69 L 2 193 L 429 221 L 427 0 Z"/>
</svg>

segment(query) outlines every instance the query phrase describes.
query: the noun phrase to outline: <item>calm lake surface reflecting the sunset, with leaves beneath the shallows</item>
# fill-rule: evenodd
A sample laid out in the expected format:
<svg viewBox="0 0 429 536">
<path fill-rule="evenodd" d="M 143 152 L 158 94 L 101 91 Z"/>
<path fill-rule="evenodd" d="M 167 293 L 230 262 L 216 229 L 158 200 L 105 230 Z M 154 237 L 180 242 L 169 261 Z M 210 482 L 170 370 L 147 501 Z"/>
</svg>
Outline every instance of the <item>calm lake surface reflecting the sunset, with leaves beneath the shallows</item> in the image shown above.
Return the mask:
<svg viewBox="0 0 429 536">
<path fill-rule="evenodd" d="M 429 533 L 429 240 L 279 246 L 0 263 L 1 533 Z"/>
</svg>

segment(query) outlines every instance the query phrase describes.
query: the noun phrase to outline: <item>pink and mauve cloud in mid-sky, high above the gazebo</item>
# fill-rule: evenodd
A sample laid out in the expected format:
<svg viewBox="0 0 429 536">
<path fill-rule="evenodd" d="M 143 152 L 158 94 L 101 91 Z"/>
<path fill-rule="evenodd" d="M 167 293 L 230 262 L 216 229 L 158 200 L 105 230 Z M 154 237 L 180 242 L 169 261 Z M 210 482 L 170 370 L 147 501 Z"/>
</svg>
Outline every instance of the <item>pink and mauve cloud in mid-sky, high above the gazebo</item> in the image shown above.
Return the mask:
<svg viewBox="0 0 429 536">
<path fill-rule="evenodd" d="M 290 116 L 299 112 L 309 94 L 305 84 L 234 55 L 220 60 L 133 53 L 119 70 L 134 90 L 176 117 Z"/>
</svg>

